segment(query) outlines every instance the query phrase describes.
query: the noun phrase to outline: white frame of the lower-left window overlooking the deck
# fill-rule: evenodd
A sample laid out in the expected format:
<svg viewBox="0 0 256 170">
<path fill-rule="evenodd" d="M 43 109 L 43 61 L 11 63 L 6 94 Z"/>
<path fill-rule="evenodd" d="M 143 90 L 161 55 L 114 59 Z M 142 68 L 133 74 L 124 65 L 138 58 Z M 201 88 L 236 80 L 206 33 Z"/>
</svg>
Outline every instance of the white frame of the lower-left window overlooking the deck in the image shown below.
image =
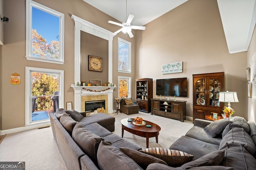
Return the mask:
<svg viewBox="0 0 256 170">
<path fill-rule="evenodd" d="M 26 95 L 25 95 L 25 125 L 32 125 L 35 123 L 42 123 L 42 122 L 46 122 L 46 121 L 50 121 L 49 120 L 43 120 L 43 121 L 38 121 L 38 122 L 32 122 L 32 102 L 31 102 L 31 89 L 32 89 L 32 72 L 44 72 L 44 73 L 55 73 L 55 74 L 59 74 L 59 108 L 63 108 L 64 107 L 64 70 L 55 70 L 55 69 L 48 69 L 48 68 L 37 68 L 37 67 L 27 67 L 26 66 L 26 84 L 25 84 L 25 88 L 26 88 Z"/>
</svg>

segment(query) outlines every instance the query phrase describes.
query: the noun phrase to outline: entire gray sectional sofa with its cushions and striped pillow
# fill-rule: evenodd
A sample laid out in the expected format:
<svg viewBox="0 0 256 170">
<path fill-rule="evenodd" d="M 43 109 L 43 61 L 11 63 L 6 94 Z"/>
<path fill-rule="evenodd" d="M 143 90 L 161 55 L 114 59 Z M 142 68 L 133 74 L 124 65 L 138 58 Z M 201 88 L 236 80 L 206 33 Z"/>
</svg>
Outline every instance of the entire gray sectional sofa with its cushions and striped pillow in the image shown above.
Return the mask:
<svg viewBox="0 0 256 170">
<path fill-rule="evenodd" d="M 84 116 L 73 110 L 50 112 L 53 136 L 68 170 L 256 169 L 256 126 L 242 117 L 195 119 L 194 127 L 169 149 L 148 153 L 111 133 L 114 117 Z"/>
</svg>

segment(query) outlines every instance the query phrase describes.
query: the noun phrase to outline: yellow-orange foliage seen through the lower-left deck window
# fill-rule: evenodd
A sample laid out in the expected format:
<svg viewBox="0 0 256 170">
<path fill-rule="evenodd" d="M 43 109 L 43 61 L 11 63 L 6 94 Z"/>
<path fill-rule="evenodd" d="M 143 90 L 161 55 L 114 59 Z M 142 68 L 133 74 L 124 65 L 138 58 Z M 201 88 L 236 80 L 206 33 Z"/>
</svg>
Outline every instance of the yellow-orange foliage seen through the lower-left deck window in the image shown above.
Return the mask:
<svg viewBox="0 0 256 170">
<path fill-rule="evenodd" d="M 59 91 L 58 74 L 32 72 L 32 96 L 48 96 Z"/>
</svg>

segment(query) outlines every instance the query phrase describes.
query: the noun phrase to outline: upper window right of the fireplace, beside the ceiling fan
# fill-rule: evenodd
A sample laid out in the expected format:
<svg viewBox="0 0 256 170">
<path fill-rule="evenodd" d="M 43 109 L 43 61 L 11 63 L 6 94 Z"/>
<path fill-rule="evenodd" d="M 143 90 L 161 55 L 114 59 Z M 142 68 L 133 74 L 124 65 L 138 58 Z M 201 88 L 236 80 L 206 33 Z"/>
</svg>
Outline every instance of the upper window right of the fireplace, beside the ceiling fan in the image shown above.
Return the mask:
<svg viewBox="0 0 256 170">
<path fill-rule="evenodd" d="M 131 45 L 118 37 L 118 72 L 131 73 Z"/>
</svg>

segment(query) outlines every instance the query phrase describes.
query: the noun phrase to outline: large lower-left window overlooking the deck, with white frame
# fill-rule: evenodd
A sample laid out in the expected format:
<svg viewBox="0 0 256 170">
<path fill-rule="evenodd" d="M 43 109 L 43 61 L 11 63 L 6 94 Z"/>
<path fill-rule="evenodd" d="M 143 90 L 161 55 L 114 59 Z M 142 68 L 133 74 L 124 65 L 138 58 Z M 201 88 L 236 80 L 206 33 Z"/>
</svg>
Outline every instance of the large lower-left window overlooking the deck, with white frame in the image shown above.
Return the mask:
<svg viewBox="0 0 256 170">
<path fill-rule="evenodd" d="M 26 125 L 49 121 L 45 112 L 62 108 L 63 94 L 63 70 L 26 67 Z"/>
</svg>

